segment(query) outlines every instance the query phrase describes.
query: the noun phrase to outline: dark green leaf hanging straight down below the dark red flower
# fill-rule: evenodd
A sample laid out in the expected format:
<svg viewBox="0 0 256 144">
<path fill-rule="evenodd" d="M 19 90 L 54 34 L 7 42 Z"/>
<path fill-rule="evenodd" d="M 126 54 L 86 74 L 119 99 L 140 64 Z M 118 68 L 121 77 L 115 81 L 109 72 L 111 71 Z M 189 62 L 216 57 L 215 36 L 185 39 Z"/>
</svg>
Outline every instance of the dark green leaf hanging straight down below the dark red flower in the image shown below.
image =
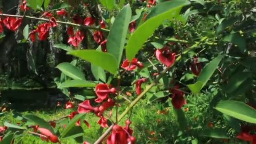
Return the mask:
<svg viewBox="0 0 256 144">
<path fill-rule="evenodd" d="M 182 131 L 186 131 L 188 126 L 187 126 L 187 120 L 186 117 L 184 115 L 184 112 L 182 111 L 182 109 L 175 109 L 173 107 L 173 112 L 175 115 L 175 119 L 179 125 L 179 129 Z"/>
</svg>

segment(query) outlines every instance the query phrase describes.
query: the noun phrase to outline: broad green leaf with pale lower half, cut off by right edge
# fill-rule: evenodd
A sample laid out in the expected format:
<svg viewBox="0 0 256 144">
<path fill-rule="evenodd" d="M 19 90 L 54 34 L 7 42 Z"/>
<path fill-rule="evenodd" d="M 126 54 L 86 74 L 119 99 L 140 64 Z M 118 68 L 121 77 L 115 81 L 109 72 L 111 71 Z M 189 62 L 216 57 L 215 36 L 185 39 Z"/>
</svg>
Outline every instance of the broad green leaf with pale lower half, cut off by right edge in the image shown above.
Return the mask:
<svg viewBox="0 0 256 144">
<path fill-rule="evenodd" d="M 256 123 L 256 110 L 241 101 L 220 101 L 215 109 L 239 120 Z"/>
</svg>

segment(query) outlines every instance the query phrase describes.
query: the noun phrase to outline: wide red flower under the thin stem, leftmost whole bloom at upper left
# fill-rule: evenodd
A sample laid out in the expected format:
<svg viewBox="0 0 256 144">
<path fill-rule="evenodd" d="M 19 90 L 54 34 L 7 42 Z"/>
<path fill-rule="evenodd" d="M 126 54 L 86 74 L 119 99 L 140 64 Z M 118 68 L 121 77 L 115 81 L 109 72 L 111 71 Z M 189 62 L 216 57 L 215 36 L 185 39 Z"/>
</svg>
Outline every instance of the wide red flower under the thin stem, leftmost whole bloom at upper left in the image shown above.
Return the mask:
<svg viewBox="0 0 256 144">
<path fill-rule="evenodd" d="M 21 18 L 16 19 L 14 17 L 7 17 L 7 18 L 3 19 L 3 24 L 8 29 L 15 32 L 19 28 L 19 26 L 21 25 L 21 21 L 22 21 Z"/>
</svg>

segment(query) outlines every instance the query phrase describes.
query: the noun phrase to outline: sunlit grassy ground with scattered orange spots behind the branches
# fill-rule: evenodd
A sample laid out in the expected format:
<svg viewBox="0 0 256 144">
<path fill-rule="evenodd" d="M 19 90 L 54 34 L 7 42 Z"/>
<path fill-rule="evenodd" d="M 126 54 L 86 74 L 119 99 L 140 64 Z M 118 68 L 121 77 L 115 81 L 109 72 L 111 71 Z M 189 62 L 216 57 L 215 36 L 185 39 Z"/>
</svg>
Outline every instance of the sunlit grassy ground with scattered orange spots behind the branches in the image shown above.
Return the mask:
<svg viewBox="0 0 256 144">
<path fill-rule="evenodd" d="M 170 99 L 167 103 L 161 104 L 146 104 L 146 101 L 140 101 L 140 103 L 133 108 L 132 115 L 130 117 L 132 122 L 131 128 L 134 130 L 133 135 L 136 137 L 137 143 L 190 144 L 195 137 L 205 144 L 222 143 L 222 139 L 198 137 L 198 133 L 202 129 L 207 129 L 208 127 L 226 127 L 226 124 L 223 121 L 220 121 L 219 117 L 213 117 L 213 114 L 208 111 L 209 101 L 212 99 L 212 96 L 201 94 L 197 96 L 186 96 L 186 99 L 188 104 L 182 108 L 188 123 L 187 131 L 185 133 L 179 131 L 179 124 L 176 121 L 173 107 L 170 107 L 168 104 L 170 103 Z M 124 109 L 125 107 L 121 107 L 120 112 Z M 56 120 L 75 110 L 76 109 L 59 108 L 52 111 L 33 111 L 32 113 L 39 117 L 43 117 L 45 120 Z M 23 115 L 27 113 L 31 112 L 22 112 Z M 112 115 L 112 119 L 115 119 L 115 112 L 113 112 Z M 124 121 L 128 116 L 129 115 L 122 120 L 120 125 L 124 126 Z M 100 131 L 100 126 L 97 124 L 98 119 L 99 118 L 92 113 L 86 115 L 85 120 L 90 123 L 91 128 L 87 128 L 84 123 L 82 124 L 84 129 L 84 141 L 93 142 L 101 135 L 102 132 Z M 63 130 L 63 127 L 58 127 L 58 125 L 62 125 L 61 123 L 65 123 L 66 120 L 60 120 L 55 129 L 59 129 L 59 131 Z M 11 123 L 22 123 L 20 120 L 17 120 L 17 118 L 14 118 L 10 112 L 0 117 L 0 125 L 3 125 L 5 121 Z M 24 136 L 22 141 L 24 141 L 24 144 L 46 143 L 41 141 L 39 137 L 29 134 Z M 61 142 L 64 144 L 75 144 L 75 141 L 72 139 L 67 139 Z"/>
</svg>

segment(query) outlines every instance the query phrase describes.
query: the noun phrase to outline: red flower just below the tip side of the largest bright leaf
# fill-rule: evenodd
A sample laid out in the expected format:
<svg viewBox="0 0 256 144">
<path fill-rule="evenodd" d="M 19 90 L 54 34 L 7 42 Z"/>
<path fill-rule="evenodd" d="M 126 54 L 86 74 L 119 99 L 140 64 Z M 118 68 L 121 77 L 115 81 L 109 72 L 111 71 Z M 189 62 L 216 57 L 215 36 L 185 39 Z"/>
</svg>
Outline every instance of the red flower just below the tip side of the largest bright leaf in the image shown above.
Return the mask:
<svg viewBox="0 0 256 144">
<path fill-rule="evenodd" d="M 162 64 L 165 64 L 166 67 L 170 67 L 175 61 L 175 53 L 171 53 L 171 51 L 164 47 L 162 49 L 157 49 L 155 51 L 155 55 Z"/>
</svg>

